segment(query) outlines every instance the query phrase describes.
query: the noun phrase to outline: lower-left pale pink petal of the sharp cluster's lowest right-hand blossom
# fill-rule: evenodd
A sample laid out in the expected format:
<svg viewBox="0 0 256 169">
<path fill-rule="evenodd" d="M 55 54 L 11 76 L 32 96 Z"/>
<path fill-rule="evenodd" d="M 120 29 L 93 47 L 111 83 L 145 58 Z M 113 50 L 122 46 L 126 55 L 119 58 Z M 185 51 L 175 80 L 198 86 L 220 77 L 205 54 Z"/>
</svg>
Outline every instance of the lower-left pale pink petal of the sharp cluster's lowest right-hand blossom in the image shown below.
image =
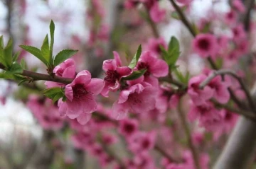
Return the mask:
<svg viewBox="0 0 256 169">
<path fill-rule="evenodd" d="M 125 103 L 118 104 L 117 102 L 114 102 L 111 117 L 116 120 L 123 120 L 127 117 L 127 112 L 128 109 Z"/>
</svg>

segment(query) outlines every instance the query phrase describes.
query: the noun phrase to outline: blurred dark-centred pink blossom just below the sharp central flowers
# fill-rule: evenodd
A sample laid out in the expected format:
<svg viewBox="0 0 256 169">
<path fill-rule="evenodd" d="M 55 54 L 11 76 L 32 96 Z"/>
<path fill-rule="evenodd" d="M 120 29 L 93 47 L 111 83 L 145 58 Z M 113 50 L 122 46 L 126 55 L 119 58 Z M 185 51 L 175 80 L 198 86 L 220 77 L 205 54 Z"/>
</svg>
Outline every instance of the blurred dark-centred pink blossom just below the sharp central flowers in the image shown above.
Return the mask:
<svg viewBox="0 0 256 169">
<path fill-rule="evenodd" d="M 124 119 L 119 122 L 119 133 L 123 134 L 124 136 L 132 136 L 138 130 L 138 121 L 137 120 L 130 120 Z"/>
</svg>

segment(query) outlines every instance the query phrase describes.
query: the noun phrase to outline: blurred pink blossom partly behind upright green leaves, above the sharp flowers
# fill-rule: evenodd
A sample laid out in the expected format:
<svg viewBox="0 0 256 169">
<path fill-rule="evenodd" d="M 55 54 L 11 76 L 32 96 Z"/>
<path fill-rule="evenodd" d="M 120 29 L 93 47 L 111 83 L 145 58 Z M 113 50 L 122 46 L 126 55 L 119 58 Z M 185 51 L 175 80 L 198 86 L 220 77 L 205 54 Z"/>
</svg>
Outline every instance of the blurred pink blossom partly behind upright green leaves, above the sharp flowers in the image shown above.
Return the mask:
<svg viewBox="0 0 256 169">
<path fill-rule="evenodd" d="M 144 49 L 151 52 L 153 55 L 159 56 L 161 54 L 160 46 L 164 47 L 164 49 L 167 49 L 167 44 L 163 37 L 159 37 L 158 39 L 150 38 Z"/>
</svg>

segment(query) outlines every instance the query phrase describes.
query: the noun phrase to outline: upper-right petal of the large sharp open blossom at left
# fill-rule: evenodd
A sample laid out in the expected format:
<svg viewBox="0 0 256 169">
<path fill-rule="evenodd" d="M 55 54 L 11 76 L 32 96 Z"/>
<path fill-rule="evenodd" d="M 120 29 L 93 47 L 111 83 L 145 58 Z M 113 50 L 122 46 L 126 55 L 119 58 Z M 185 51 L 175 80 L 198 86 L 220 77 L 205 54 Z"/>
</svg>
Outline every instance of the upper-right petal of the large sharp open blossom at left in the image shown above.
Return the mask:
<svg viewBox="0 0 256 169">
<path fill-rule="evenodd" d="M 86 90 L 94 95 L 100 94 L 105 86 L 105 82 L 100 78 L 92 78 L 89 84 L 85 86 Z"/>
</svg>

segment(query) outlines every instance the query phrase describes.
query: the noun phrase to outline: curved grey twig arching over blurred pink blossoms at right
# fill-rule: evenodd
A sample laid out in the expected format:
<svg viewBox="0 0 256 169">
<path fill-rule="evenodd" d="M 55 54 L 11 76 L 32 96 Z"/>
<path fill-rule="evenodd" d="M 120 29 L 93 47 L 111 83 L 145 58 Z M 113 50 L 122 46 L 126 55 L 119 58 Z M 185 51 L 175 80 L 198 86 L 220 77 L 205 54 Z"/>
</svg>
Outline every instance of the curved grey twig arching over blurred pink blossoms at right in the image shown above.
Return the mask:
<svg viewBox="0 0 256 169">
<path fill-rule="evenodd" d="M 208 78 L 206 78 L 206 80 L 200 84 L 199 88 L 203 89 L 206 85 L 208 85 L 208 83 L 210 83 L 211 80 L 213 80 L 213 78 L 215 78 L 218 75 L 224 76 L 225 74 L 233 76 L 233 78 L 237 79 L 237 81 L 240 83 L 242 90 L 245 92 L 245 95 L 247 97 L 247 100 L 249 101 L 250 107 L 252 108 L 253 111 L 256 111 L 255 103 L 252 100 L 252 96 L 250 95 L 249 90 L 245 86 L 245 83 L 243 83 L 242 78 L 240 78 L 240 76 L 235 74 L 235 72 L 233 72 L 233 71 L 225 70 L 225 69 L 219 70 L 219 71 L 213 71 L 213 73 L 210 74 L 210 76 L 208 76 Z"/>
</svg>

